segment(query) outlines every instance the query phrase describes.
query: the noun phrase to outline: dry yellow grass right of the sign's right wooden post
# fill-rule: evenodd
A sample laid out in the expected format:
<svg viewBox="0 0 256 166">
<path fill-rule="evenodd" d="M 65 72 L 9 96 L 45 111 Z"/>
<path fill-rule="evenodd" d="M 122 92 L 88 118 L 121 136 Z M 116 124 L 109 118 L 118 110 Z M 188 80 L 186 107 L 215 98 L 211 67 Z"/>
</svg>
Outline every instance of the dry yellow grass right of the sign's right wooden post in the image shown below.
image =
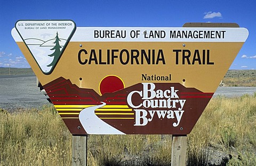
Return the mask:
<svg viewBox="0 0 256 166">
<path fill-rule="evenodd" d="M 232 156 L 229 165 L 256 163 L 256 94 L 212 99 L 189 138 L 189 151 L 202 157 L 204 147 Z M 189 152 L 188 151 L 188 155 Z M 232 163 L 236 164 L 232 164 Z"/>
</svg>

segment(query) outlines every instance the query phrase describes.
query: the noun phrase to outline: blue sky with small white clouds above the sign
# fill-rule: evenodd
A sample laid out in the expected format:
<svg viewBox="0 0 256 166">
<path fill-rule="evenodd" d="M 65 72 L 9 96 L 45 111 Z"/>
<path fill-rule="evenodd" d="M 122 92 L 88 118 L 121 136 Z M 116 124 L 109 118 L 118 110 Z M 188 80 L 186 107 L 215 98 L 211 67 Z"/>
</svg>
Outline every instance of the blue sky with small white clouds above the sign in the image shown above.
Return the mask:
<svg viewBox="0 0 256 166">
<path fill-rule="evenodd" d="M 230 69 L 256 69 L 255 1 L 1 1 L 0 67 L 30 67 L 11 36 L 18 20 L 73 20 L 77 27 L 182 27 L 234 22 L 249 37 Z"/>
</svg>

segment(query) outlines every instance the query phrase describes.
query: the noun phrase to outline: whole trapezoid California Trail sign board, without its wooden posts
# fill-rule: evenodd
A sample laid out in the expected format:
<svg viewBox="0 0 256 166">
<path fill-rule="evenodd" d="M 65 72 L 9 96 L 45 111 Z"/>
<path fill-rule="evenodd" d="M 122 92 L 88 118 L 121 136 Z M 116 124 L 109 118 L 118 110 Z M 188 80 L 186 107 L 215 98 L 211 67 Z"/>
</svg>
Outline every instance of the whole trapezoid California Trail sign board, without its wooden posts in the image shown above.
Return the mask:
<svg viewBox="0 0 256 166">
<path fill-rule="evenodd" d="M 189 25 L 20 20 L 12 36 L 72 134 L 186 135 L 249 34 Z"/>
</svg>

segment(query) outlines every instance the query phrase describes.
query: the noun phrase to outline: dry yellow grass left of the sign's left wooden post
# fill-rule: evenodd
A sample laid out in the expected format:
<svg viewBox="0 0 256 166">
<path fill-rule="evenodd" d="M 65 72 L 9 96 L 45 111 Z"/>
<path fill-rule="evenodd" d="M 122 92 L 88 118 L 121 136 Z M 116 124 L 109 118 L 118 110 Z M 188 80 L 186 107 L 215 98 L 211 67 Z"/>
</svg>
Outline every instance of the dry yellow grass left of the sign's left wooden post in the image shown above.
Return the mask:
<svg viewBox="0 0 256 166">
<path fill-rule="evenodd" d="M 53 108 L 1 112 L 0 165 L 70 165 L 71 136 Z"/>
</svg>

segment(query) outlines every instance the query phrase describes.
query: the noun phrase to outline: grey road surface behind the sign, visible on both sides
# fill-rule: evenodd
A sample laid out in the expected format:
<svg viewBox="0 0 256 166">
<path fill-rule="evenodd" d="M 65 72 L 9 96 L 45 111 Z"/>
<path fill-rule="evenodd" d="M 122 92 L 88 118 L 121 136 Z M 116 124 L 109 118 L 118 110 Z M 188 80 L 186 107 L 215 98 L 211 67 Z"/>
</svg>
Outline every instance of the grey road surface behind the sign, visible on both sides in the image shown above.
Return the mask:
<svg viewBox="0 0 256 166">
<path fill-rule="evenodd" d="M 226 95 L 239 97 L 244 94 L 254 95 L 256 87 L 219 87 L 213 97 Z M 15 111 L 25 108 L 40 109 L 49 104 L 46 96 L 36 86 L 35 75 L 0 76 L 0 109 Z"/>
</svg>

